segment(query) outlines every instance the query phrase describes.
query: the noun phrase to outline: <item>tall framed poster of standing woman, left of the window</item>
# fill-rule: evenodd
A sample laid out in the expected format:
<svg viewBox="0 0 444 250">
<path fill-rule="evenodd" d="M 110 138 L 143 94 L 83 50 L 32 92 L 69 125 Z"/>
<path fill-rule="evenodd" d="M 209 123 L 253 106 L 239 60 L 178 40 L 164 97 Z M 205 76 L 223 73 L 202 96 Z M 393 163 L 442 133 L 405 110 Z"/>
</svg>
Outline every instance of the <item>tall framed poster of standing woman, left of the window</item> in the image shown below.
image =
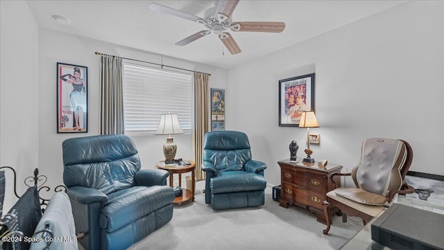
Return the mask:
<svg viewBox="0 0 444 250">
<path fill-rule="evenodd" d="M 87 132 L 86 66 L 57 63 L 57 132 Z"/>
</svg>

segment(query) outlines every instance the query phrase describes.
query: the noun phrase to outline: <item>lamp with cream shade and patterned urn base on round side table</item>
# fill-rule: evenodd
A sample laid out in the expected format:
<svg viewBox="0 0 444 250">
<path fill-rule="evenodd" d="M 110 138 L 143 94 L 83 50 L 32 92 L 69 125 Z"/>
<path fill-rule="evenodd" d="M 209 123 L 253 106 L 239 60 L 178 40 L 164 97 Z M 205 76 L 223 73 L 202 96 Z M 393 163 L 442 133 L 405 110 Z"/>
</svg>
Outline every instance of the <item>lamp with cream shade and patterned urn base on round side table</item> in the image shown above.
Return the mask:
<svg viewBox="0 0 444 250">
<path fill-rule="evenodd" d="M 176 152 L 178 150 L 178 145 L 174 143 L 171 134 L 182 134 L 183 130 L 180 127 L 178 114 L 161 114 L 159 127 L 154 134 L 168 134 L 167 143 L 164 144 L 164 156 L 165 163 L 174 163 L 174 157 L 176 157 Z"/>
</svg>

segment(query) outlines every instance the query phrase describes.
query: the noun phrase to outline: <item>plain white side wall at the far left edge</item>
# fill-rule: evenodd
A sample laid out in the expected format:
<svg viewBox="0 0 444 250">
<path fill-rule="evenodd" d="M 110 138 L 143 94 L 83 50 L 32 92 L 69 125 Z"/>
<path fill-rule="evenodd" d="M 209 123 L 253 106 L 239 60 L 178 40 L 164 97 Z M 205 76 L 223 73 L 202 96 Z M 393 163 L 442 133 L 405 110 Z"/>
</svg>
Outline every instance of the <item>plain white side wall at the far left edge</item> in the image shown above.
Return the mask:
<svg viewBox="0 0 444 250">
<path fill-rule="evenodd" d="M 39 160 L 38 26 L 25 1 L 0 1 L 0 18 L 0 166 L 17 170 L 22 195 Z M 8 211 L 17 198 L 12 171 L 5 173 Z"/>
</svg>

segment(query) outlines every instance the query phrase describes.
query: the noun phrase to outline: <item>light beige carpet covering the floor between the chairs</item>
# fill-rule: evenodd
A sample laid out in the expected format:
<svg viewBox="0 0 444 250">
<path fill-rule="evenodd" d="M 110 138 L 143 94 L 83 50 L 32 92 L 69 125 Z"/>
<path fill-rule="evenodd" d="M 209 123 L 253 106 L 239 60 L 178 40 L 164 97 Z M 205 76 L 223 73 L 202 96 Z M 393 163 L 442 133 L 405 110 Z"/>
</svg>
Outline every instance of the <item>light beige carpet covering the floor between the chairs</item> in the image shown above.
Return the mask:
<svg viewBox="0 0 444 250">
<path fill-rule="evenodd" d="M 129 249 L 339 249 L 362 227 L 359 220 L 343 223 L 334 216 L 329 235 L 323 235 L 325 225 L 316 216 L 296 206 L 282 208 L 273 201 L 271 188 L 264 206 L 214 211 L 205 204 L 204 188 L 205 181 L 198 181 L 194 202 L 175 205 L 171 222 Z"/>
</svg>

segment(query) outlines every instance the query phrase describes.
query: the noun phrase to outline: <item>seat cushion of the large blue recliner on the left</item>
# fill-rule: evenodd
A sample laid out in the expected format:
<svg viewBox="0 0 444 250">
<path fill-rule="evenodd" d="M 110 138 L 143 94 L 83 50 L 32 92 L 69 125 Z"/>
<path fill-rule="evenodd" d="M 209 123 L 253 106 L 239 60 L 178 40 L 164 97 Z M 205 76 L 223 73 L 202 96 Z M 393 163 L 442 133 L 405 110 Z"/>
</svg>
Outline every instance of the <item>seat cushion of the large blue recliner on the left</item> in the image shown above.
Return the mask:
<svg viewBox="0 0 444 250">
<path fill-rule="evenodd" d="M 169 186 L 136 186 L 108 197 L 99 215 L 99 226 L 110 233 L 171 204 L 176 195 Z"/>
</svg>

